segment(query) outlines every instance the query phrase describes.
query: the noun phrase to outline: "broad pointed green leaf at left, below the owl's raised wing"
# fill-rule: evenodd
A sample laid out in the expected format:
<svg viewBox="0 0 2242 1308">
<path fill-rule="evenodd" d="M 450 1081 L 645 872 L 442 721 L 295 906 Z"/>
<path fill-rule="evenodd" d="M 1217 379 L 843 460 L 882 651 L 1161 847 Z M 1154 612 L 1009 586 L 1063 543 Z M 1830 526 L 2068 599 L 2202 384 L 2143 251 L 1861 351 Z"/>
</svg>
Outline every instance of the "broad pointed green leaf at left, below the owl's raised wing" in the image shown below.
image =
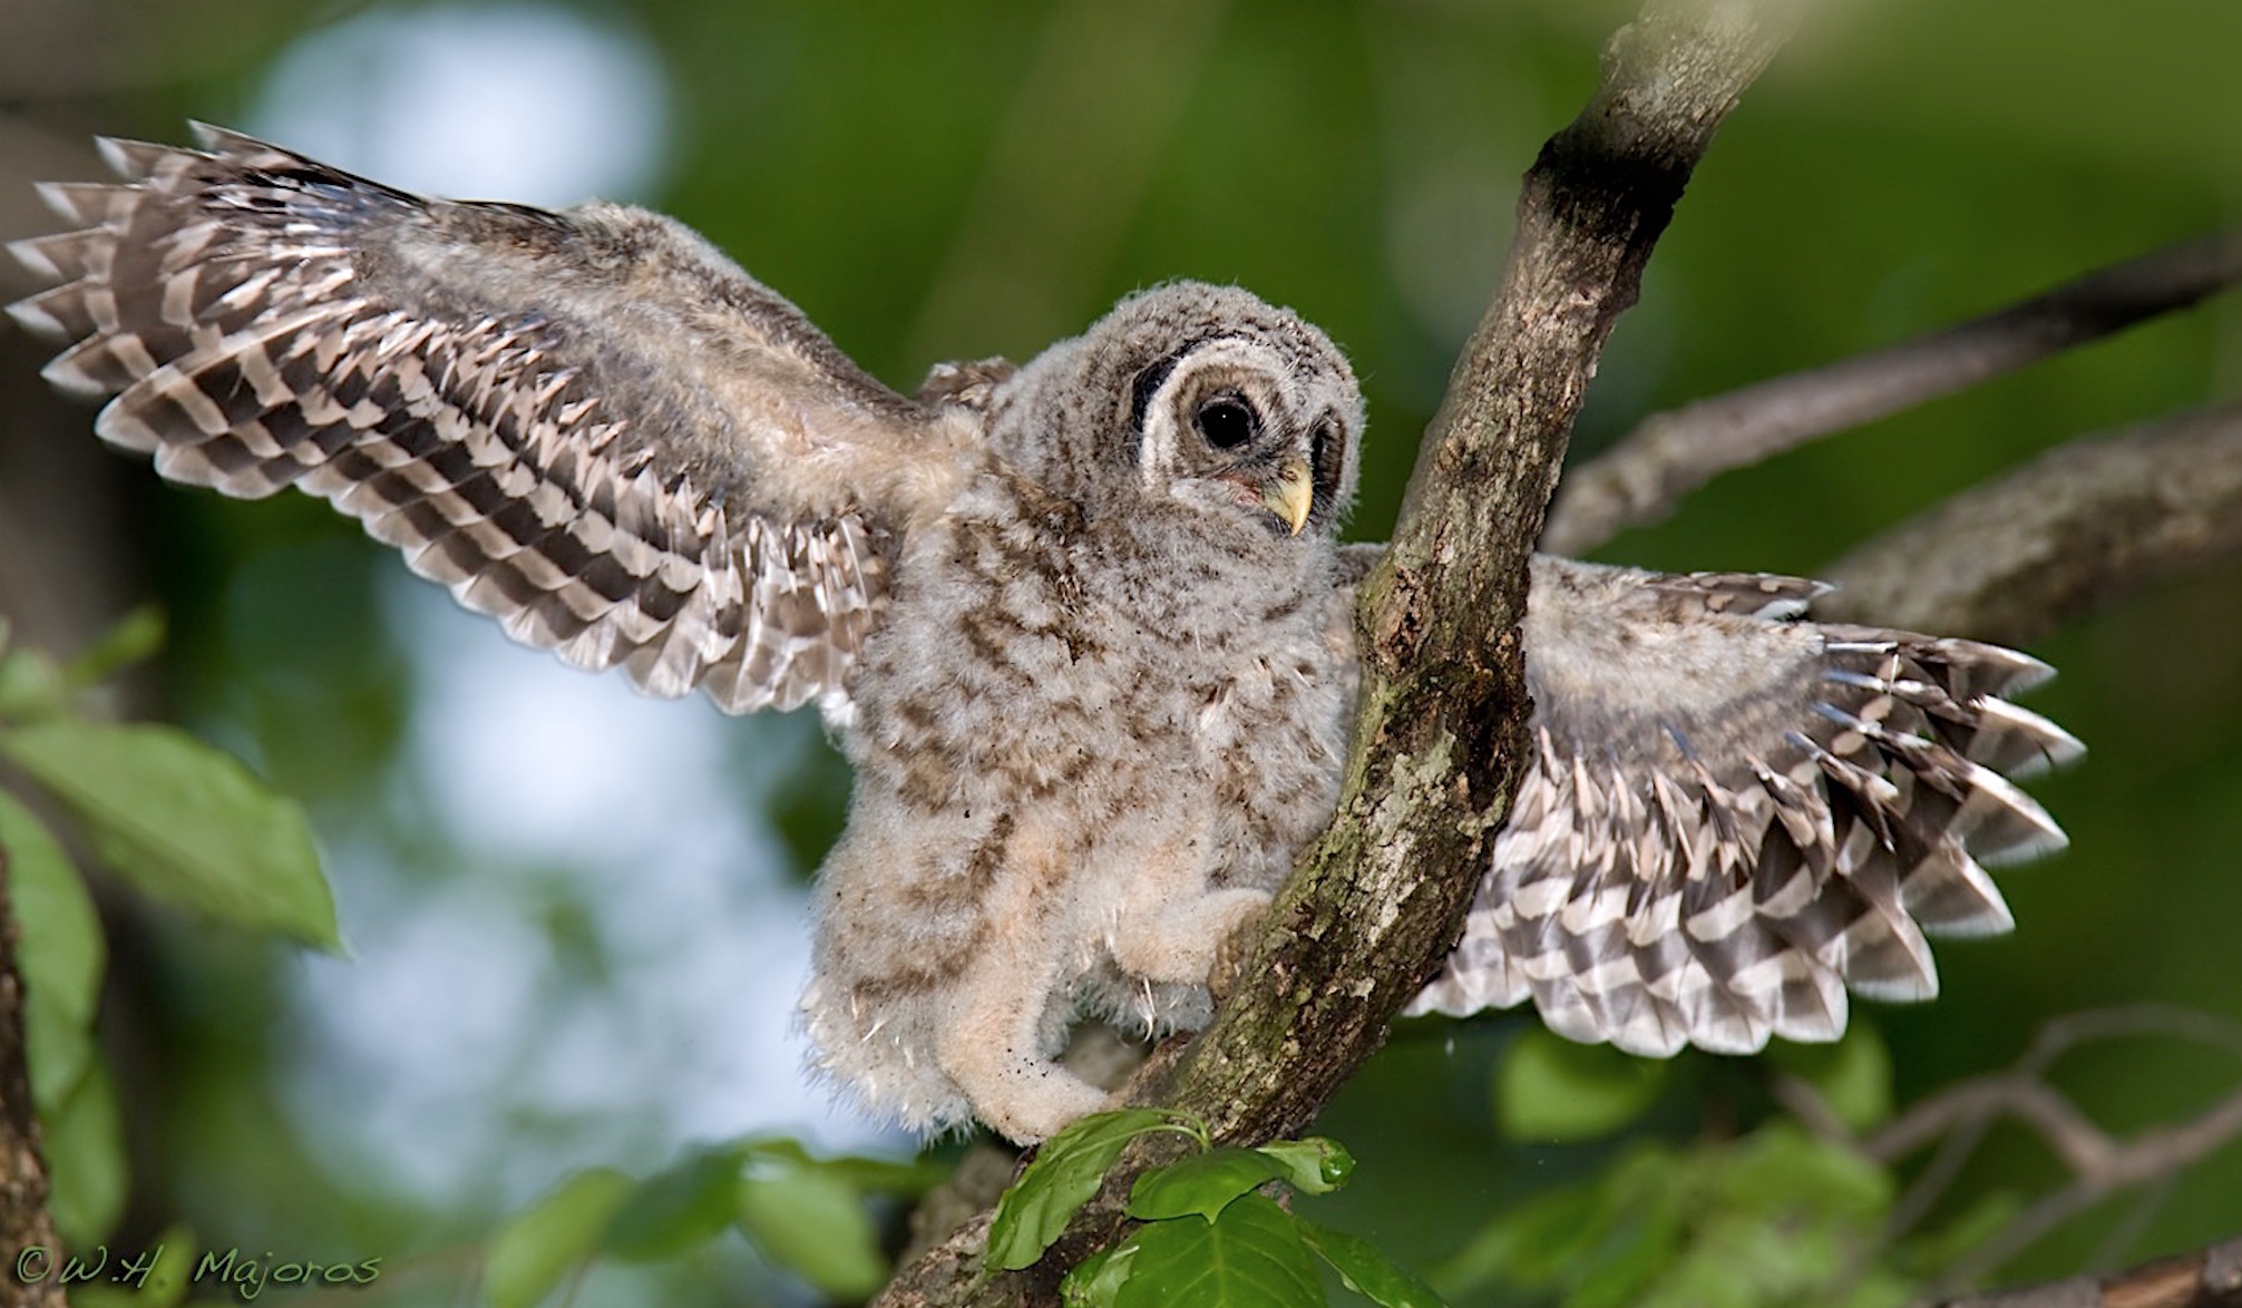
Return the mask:
<svg viewBox="0 0 2242 1308">
<path fill-rule="evenodd" d="M 341 947 L 303 810 L 229 754 L 170 727 L 74 720 L 0 731 L 0 754 L 67 803 L 101 857 L 141 891 Z"/>
</svg>

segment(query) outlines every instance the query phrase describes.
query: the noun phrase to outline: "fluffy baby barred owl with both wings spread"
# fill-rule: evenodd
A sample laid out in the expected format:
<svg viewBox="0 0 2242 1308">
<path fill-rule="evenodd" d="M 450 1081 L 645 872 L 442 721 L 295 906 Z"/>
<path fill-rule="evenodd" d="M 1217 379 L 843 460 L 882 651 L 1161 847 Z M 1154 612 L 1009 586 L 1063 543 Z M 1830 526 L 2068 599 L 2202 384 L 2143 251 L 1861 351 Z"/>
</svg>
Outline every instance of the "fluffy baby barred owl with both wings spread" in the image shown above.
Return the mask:
<svg viewBox="0 0 2242 1308">
<path fill-rule="evenodd" d="M 16 256 L 47 368 L 175 480 L 334 500 L 583 669 L 856 765 L 803 996 L 814 1061 L 915 1129 L 1038 1140 L 1105 1095 L 1083 1014 L 1191 1030 L 1330 817 L 1354 693 L 1336 543 L 1363 404 L 1242 289 L 1134 294 L 1027 366 L 897 395 L 637 209 L 421 200 L 202 128 Z M 1536 559 L 1538 765 L 1417 1010 L 1534 998 L 1643 1054 L 1827 1041 L 2011 924 L 1975 859 L 2063 841 L 2007 774 L 2076 740 L 2047 669 L 1798 619 L 1816 586 Z M 1462 871 L 1460 871 L 1462 873 Z"/>
</svg>

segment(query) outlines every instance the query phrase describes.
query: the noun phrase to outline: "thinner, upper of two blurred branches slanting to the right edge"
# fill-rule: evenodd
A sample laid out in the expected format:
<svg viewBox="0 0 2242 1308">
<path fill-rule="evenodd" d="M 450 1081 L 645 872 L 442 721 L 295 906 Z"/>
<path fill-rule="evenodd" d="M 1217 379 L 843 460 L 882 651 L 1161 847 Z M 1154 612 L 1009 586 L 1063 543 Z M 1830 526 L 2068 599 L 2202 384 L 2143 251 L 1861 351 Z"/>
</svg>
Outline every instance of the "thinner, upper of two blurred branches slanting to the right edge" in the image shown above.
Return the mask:
<svg viewBox="0 0 2242 1308">
<path fill-rule="evenodd" d="M 1715 476 L 2013 372 L 2242 280 L 2242 231 L 2090 271 L 1984 319 L 1646 417 L 1565 478 L 1542 547 L 1581 554 Z"/>
</svg>

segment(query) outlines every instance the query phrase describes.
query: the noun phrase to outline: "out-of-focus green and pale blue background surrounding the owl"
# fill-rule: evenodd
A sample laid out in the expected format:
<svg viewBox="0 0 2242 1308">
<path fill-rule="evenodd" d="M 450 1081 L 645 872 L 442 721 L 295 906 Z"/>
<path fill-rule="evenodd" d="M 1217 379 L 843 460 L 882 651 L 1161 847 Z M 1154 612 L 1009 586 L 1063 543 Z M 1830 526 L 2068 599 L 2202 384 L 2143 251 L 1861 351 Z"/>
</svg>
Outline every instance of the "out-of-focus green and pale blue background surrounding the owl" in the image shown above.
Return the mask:
<svg viewBox="0 0 2242 1308">
<path fill-rule="evenodd" d="M 942 359 L 1034 354 L 1161 278 L 1242 283 L 1354 357 L 1372 440 L 1352 534 L 1381 538 L 1498 276 L 1516 177 L 1630 11 L 7 0 L 0 238 L 49 229 L 31 179 L 99 175 L 92 132 L 177 141 L 195 117 L 406 186 L 659 206 L 899 388 Z M 1574 453 L 1657 408 L 2233 222 L 2235 49 L 2242 7 L 2197 0 L 1827 7 L 1699 168 Z M 27 289 L 0 269 L 0 296 Z M 453 617 L 323 505 L 164 489 L 47 395 L 43 354 L 0 330 L 0 612 L 18 639 L 70 651 L 159 599 L 173 642 L 119 707 L 191 725 L 312 805 L 352 947 L 312 960 L 103 888 L 103 1039 L 132 1164 L 121 1245 L 184 1221 L 206 1247 L 379 1254 L 379 1286 L 354 1299 L 439 1304 L 491 1227 L 572 1167 L 648 1173 L 749 1131 L 908 1151 L 821 1108 L 785 1028 L 800 884 L 845 801 L 814 722 L 632 700 Z M 2040 449 L 2238 381 L 2226 298 L 1722 478 L 1601 556 L 1812 574 Z M 1939 949 L 1942 1001 L 1856 1007 L 1901 1104 L 2007 1066 L 2085 1007 L 2242 1021 L 2238 646 L 2242 568 L 2226 565 L 2036 648 L 2063 678 L 2031 707 L 2092 747 L 2036 783 L 2074 848 L 2002 877 L 2016 936 Z M 1516 1124 L 1498 1068 L 1529 1028 L 1403 1025 L 1321 1124 L 1361 1160 L 1325 1212 L 1466 1283 L 1455 1259 L 1484 1263 L 1495 1214 L 1563 1182 L 1668 1176 L 1771 1111 L 1758 1063 L 1690 1054 L 1616 1140 L 1520 1142 L 1534 1115 Z M 2199 1111 L 2238 1066 L 2132 1041 L 2056 1079 L 2132 1133 Z M 1666 1162 L 1646 1171 L 1643 1149 Z M 2000 1126 L 1939 1212 L 2060 1180 L 2036 1137 Z M 2146 1203 L 2090 1207 L 2000 1277 L 2233 1234 L 2238 1196 L 2231 1146 Z M 576 1301 L 648 1295 L 814 1299 L 731 1241 L 688 1265 L 599 1270 Z"/>
</svg>

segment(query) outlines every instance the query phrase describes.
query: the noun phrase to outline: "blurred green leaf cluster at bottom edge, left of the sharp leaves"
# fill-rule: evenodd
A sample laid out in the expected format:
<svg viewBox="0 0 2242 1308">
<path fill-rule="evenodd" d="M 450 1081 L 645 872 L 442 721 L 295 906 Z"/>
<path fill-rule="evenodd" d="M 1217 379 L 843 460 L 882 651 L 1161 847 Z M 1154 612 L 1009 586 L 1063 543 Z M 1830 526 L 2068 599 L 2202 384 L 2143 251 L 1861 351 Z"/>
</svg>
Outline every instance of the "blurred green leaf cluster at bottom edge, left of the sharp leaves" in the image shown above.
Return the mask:
<svg viewBox="0 0 2242 1308">
<path fill-rule="evenodd" d="M 915 1196 L 937 1176 L 924 1162 L 812 1158 L 794 1140 L 702 1144 L 646 1180 L 592 1167 L 500 1227 L 484 1261 L 484 1301 L 531 1308 L 592 1259 L 684 1259 L 729 1229 L 821 1292 L 865 1299 L 888 1281 L 865 1203 Z"/>
</svg>

